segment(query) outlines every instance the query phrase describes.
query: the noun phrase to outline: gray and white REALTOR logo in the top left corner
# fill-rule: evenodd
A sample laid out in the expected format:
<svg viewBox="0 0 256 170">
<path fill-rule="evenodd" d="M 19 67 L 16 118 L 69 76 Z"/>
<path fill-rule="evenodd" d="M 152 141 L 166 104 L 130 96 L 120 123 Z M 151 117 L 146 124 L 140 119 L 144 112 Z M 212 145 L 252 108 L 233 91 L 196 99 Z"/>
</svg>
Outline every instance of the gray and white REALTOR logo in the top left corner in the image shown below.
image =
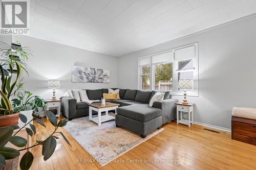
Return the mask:
<svg viewBox="0 0 256 170">
<path fill-rule="evenodd" d="M 1 34 L 28 34 L 28 1 L 1 2 Z"/>
</svg>

